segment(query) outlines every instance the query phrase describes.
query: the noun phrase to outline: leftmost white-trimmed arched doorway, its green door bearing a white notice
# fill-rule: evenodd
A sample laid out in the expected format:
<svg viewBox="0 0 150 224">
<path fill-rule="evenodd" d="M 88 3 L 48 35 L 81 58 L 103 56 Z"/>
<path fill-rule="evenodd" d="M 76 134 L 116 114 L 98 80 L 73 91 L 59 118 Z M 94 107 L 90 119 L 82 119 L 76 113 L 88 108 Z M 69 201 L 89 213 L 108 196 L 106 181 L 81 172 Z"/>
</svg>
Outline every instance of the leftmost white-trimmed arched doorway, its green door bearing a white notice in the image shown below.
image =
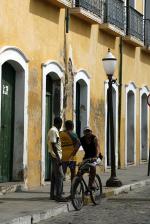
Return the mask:
<svg viewBox="0 0 150 224">
<path fill-rule="evenodd" d="M 15 47 L 0 49 L 0 182 L 27 183 L 28 59 Z"/>
</svg>

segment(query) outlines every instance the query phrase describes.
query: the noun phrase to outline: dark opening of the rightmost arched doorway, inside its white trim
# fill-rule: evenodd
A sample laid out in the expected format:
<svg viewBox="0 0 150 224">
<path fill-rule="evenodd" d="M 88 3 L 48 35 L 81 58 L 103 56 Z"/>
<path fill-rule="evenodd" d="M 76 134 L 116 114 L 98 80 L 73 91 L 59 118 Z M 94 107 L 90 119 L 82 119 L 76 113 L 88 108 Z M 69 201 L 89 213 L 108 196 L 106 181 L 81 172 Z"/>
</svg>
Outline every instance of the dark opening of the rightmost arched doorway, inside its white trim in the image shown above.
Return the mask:
<svg viewBox="0 0 150 224">
<path fill-rule="evenodd" d="M 141 160 L 148 159 L 148 108 L 147 108 L 147 94 L 143 93 L 141 96 Z"/>
</svg>

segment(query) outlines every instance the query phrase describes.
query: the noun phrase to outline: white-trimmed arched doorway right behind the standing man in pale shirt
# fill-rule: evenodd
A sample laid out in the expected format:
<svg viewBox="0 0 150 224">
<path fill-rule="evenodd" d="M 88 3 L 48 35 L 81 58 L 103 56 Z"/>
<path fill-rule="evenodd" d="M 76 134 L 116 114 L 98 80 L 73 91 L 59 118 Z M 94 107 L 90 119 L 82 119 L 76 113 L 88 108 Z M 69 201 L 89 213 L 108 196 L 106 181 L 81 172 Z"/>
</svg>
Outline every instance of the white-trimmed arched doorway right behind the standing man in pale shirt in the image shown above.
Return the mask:
<svg viewBox="0 0 150 224">
<path fill-rule="evenodd" d="M 41 182 L 50 179 L 51 163 L 47 147 L 47 133 L 55 116 L 63 116 L 64 70 L 55 61 L 43 64 L 42 86 L 42 169 Z"/>
</svg>

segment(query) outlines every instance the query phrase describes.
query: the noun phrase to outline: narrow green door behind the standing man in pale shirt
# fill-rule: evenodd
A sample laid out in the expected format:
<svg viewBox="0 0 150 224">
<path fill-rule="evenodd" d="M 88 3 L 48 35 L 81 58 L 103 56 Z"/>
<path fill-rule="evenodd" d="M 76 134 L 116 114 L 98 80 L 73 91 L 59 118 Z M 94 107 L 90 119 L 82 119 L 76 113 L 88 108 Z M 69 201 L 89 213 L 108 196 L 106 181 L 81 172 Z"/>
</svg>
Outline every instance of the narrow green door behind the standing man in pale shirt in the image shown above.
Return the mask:
<svg viewBox="0 0 150 224">
<path fill-rule="evenodd" d="M 52 127 L 52 79 L 49 75 L 46 77 L 46 121 L 45 121 L 45 180 L 50 180 L 51 163 L 47 146 L 47 133 Z"/>
</svg>

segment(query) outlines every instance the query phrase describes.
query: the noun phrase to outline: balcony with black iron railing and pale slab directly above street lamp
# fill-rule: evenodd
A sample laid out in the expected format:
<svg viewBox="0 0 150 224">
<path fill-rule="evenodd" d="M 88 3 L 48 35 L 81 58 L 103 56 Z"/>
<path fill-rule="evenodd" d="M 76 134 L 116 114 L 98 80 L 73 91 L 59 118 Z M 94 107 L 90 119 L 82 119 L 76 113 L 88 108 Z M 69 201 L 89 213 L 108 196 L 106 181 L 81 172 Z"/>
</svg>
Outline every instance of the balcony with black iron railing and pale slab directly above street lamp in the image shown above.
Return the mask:
<svg viewBox="0 0 150 224">
<path fill-rule="evenodd" d="M 122 0 L 107 0 L 104 4 L 103 29 L 115 36 L 125 35 L 125 7 Z"/>
</svg>

